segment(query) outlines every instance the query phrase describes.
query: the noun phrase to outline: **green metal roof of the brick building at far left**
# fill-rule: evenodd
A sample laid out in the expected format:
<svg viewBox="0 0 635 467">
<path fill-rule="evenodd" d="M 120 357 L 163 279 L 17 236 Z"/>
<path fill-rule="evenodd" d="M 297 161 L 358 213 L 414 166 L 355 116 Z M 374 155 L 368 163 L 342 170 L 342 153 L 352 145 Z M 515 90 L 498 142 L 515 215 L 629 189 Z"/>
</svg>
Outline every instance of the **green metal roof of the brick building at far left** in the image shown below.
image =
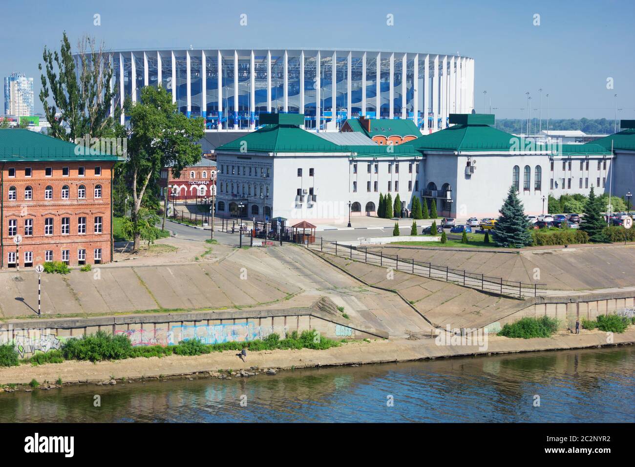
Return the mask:
<svg viewBox="0 0 635 467">
<path fill-rule="evenodd" d="M 75 154 L 77 145 L 24 129 L 0 130 L 0 161 L 117 161 L 116 155 Z M 88 152 L 88 151 L 86 151 Z"/>
</svg>

